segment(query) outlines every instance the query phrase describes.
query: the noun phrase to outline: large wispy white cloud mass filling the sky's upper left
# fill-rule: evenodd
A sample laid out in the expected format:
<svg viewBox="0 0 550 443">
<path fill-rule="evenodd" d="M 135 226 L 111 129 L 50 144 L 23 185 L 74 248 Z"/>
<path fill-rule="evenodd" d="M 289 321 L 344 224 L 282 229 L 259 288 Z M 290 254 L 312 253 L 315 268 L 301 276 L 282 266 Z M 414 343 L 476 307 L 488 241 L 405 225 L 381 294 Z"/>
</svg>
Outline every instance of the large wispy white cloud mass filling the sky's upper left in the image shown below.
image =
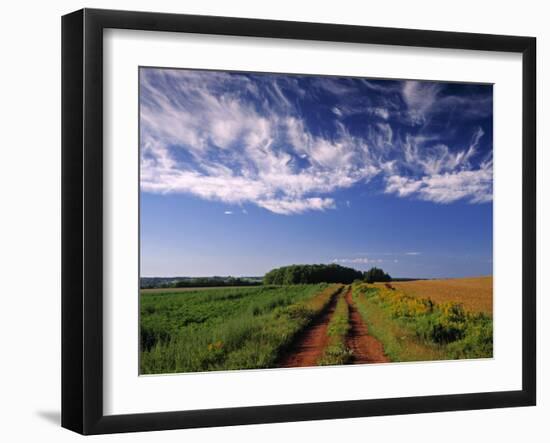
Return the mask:
<svg viewBox="0 0 550 443">
<path fill-rule="evenodd" d="M 227 82 L 234 82 L 233 92 L 223 88 Z M 334 200 L 322 194 L 378 173 L 365 141 L 343 125 L 336 124 L 336 136 L 314 135 L 289 106 L 278 82 L 263 85 L 271 102 L 261 109 L 241 97 L 245 90 L 257 94 L 259 101 L 254 86 L 245 77 L 223 73 L 145 71 L 142 189 L 250 202 L 277 214 L 298 214 L 334 208 Z M 183 154 L 186 161 L 178 161 Z M 307 165 L 298 165 L 298 158 Z"/>
</svg>

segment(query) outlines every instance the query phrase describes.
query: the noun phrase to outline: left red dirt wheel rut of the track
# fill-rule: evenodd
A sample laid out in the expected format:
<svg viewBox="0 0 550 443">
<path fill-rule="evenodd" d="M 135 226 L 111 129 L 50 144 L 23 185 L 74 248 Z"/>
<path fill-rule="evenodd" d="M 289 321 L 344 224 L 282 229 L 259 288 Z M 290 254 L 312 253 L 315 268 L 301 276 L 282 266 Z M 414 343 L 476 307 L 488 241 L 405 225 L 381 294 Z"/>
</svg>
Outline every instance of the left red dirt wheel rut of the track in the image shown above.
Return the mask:
<svg viewBox="0 0 550 443">
<path fill-rule="evenodd" d="M 277 364 L 279 368 L 317 366 L 328 344 L 328 323 L 341 292 L 335 294 L 327 308 L 303 331 Z"/>
</svg>

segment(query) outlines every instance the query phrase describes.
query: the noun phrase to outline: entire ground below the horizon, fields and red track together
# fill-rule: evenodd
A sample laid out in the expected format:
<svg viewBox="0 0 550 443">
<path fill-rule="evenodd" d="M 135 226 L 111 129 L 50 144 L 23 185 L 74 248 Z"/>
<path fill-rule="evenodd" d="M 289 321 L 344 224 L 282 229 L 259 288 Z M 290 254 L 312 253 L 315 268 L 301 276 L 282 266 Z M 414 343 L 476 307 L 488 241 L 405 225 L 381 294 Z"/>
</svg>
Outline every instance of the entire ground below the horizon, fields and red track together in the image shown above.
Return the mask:
<svg viewBox="0 0 550 443">
<path fill-rule="evenodd" d="M 491 288 L 480 277 L 142 290 L 140 372 L 488 358 Z"/>
</svg>

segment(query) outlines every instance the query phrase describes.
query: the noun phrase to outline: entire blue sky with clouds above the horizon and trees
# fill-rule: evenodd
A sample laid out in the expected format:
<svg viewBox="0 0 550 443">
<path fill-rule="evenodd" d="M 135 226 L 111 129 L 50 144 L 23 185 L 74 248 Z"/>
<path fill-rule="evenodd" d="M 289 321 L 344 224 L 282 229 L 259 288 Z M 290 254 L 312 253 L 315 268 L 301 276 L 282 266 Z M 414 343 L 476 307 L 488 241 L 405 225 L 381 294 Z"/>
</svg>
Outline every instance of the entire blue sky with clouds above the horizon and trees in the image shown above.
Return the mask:
<svg viewBox="0 0 550 443">
<path fill-rule="evenodd" d="M 492 274 L 492 86 L 140 70 L 141 275 Z"/>
</svg>

